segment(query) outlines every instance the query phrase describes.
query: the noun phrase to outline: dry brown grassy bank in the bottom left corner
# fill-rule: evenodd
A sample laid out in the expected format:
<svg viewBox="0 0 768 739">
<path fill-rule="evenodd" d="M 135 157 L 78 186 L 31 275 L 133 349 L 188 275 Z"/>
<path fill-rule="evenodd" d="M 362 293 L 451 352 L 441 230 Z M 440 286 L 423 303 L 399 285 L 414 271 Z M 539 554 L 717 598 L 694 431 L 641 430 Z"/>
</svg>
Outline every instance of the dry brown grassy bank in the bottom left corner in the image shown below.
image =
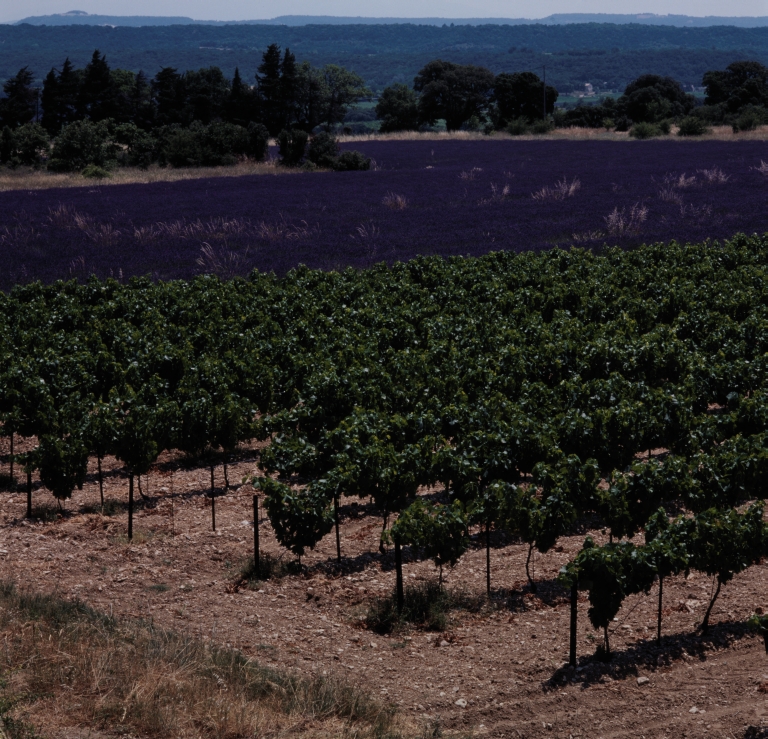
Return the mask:
<svg viewBox="0 0 768 739">
<path fill-rule="evenodd" d="M 88 727 L 149 737 L 399 736 L 391 710 L 331 678 L 0 586 L 0 736 Z"/>
</svg>

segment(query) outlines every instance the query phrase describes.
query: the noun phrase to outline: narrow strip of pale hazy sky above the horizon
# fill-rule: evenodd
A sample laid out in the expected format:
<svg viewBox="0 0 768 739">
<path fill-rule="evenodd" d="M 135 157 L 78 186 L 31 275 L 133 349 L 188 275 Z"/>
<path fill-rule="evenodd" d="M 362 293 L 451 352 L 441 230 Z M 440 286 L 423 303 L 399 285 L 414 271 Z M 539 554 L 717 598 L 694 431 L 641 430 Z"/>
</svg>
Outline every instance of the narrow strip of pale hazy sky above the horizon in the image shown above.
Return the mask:
<svg viewBox="0 0 768 739">
<path fill-rule="evenodd" d="M 551 13 L 768 15 L 768 0 L 25 0 L 0 2 L 0 22 L 68 10 L 247 20 L 277 15 L 541 18 Z"/>
</svg>

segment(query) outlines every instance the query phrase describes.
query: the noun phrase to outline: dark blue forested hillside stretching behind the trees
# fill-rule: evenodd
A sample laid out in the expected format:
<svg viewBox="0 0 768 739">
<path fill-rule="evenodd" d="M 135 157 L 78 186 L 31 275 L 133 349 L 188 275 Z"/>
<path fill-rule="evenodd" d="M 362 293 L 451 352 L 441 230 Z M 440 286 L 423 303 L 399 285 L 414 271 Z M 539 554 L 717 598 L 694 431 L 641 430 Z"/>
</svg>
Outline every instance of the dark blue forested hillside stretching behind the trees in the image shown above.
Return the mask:
<svg viewBox="0 0 768 739">
<path fill-rule="evenodd" d="M 83 18 L 82 15 L 68 16 Z M 534 71 L 546 65 L 547 81 L 561 91 L 623 90 L 641 74 L 669 75 L 689 90 L 704 72 L 740 59 L 768 64 L 768 26 L 679 28 L 610 23 L 520 25 L 205 24 L 165 26 L 0 25 L 0 82 L 28 66 L 39 82 L 66 57 L 77 67 L 94 49 L 112 67 L 179 70 L 235 67 L 253 83 L 270 43 L 290 47 L 299 61 L 340 64 L 379 92 L 395 82 L 413 83 L 432 59 L 477 64 L 494 73 Z"/>
</svg>

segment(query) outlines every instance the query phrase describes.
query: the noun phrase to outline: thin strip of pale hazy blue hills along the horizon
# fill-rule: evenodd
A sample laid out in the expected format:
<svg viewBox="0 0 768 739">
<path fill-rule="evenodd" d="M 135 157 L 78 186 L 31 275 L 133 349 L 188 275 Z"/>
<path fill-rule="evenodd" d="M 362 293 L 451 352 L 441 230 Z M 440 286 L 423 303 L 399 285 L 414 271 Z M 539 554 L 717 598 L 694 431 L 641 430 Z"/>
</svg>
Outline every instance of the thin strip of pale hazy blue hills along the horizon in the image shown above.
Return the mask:
<svg viewBox="0 0 768 739">
<path fill-rule="evenodd" d="M 619 13 L 558 13 L 545 18 L 368 18 L 363 16 L 331 15 L 281 15 L 276 18 L 244 21 L 196 20 L 185 16 L 119 16 L 93 15 L 82 10 L 53 15 L 30 16 L 17 21 L 14 25 L 29 23 L 34 26 L 174 26 L 174 25 L 393 25 L 413 24 L 422 26 L 516 26 L 525 24 L 566 25 L 571 23 L 639 23 L 642 25 L 676 26 L 681 28 L 704 28 L 708 26 L 736 26 L 739 28 L 758 28 L 768 26 L 768 16 L 689 16 L 656 15 L 654 13 L 619 14 Z"/>
</svg>

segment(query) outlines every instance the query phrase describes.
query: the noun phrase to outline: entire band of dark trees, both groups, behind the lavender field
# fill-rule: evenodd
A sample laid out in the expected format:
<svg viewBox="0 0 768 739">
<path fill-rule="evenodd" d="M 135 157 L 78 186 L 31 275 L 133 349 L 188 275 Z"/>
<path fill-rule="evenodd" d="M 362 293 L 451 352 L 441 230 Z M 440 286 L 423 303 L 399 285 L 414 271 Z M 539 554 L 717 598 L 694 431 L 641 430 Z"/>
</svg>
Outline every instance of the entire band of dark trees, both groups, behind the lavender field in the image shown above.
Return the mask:
<svg viewBox="0 0 768 739">
<path fill-rule="evenodd" d="M 45 162 L 57 171 L 90 166 L 102 173 L 116 164 L 221 165 L 261 160 L 269 138 L 280 137 L 284 164 L 365 164 L 361 155 L 339 159 L 334 150 L 313 158 L 307 151 L 310 135 L 338 130 L 354 103 L 371 94 L 363 80 L 343 67 L 299 64 L 276 44 L 263 54 L 254 84 L 237 69 L 227 79 L 218 67 L 185 73 L 164 67 L 149 80 L 142 72 L 111 69 L 98 50 L 84 69 L 69 59 L 52 69 L 39 94 L 32 80 L 24 67 L 3 86 L 0 163 Z M 646 74 L 617 99 L 556 110 L 558 91 L 533 72 L 494 75 L 438 59 L 419 71 L 412 87 L 387 87 L 375 118 L 382 132 L 444 122 L 448 131 L 523 134 L 581 126 L 630 130 L 638 138 L 669 133 L 672 124 L 680 135 L 700 135 L 712 123 L 744 131 L 768 121 L 768 68 L 759 62 L 734 62 L 707 72 L 702 82 L 703 105 L 671 77 Z"/>
</svg>

